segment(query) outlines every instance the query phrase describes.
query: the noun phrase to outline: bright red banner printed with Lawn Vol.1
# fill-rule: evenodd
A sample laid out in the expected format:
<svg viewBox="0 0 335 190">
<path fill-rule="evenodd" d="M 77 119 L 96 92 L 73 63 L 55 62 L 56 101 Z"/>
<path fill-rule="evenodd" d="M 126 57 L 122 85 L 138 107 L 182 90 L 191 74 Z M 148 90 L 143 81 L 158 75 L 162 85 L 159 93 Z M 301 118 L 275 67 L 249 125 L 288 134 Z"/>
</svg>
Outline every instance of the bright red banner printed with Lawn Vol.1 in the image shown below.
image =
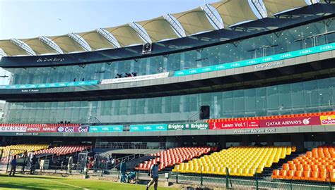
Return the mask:
<svg viewBox="0 0 335 190">
<path fill-rule="evenodd" d="M 209 129 L 242 129 L 242 128 L 258 128 L 258 127 L 259 127 L 259 120 L 210 122 L 209 123 Z"/>
</svg>

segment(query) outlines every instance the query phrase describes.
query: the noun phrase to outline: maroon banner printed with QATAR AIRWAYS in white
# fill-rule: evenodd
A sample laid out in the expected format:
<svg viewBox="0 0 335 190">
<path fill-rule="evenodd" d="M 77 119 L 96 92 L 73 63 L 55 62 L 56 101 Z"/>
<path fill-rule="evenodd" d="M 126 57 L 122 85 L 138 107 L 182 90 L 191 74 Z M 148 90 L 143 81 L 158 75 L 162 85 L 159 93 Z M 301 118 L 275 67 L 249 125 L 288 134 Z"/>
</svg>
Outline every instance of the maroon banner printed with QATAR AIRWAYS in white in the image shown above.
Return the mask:
<svg viewBox="0 0 335 190">
<path fill-rule="evenodd" d="M 259 127 L 294 127 L 304 125 L 320 125 L 319 117 L 279 118 L 259 120 Z"/>
</svg>

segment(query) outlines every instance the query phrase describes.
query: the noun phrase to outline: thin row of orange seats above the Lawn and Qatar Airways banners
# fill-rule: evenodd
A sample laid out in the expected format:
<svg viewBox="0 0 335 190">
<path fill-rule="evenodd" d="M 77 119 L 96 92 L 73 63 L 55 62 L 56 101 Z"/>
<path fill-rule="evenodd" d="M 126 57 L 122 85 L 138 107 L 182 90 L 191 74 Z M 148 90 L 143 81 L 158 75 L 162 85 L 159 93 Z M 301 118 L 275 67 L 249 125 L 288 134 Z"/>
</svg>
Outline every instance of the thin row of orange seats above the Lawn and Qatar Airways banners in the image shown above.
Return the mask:
<svg viewBox="0 0 335 190">
<path fill-rule="evenodd" d="M 335 115 L 335 111 L 322 112 L 322 113 L 299 113 L 292 115 L 271 115 L 271 116 L 260 116 L 260 117 L 247 117 L 247 118 L 223 118 L 223 119 L 209 119 L 206 122 L 228 122 L 228 121 L 245 121 L 245 120 L 271 120 L 279 118 L 300 118 L 300 117 L 311 117 L 321 115 Z"/>
</svg>

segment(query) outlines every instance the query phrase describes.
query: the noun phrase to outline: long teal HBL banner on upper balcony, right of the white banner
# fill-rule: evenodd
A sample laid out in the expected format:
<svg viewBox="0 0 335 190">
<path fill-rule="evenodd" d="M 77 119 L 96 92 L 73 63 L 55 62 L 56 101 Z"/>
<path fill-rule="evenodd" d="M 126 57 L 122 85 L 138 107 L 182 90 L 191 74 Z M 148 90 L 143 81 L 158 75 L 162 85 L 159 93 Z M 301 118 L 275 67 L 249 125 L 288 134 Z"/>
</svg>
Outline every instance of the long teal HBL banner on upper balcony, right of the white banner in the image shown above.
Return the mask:
<svg viewBox="0 0 335 190">
<path fill-rule="evenodd" d="M 261 57 L 261 58 L 254 58 L 254 59 L 248 59 L 248 60 L 244 60 L 244 61 L 236 61 L 236 62 L 232 62 L 232 63 L 223 63 L 223 64 L 219 64 L 219 65 L 211 65 L 211 66 L 207 66 L 204 68 L 193 68 L 193 69 L 188 69 L 188 70 L 179 70 L 179 71 L 175 71 L 173 76 L 174 77 L 180 77 L 180 76 L 185 76 L 185 75 L 193 75 L 193 74 L 199 74 L 199 73 L 203 73 L 203 72 L 211 72 L 211 71 L 216 71 L 216 70 L 227 70 L 227 69 L 233 69 L 233 68 L 242 68 L 245 66 L 249 66 L 249 65 L 257 65 L 257 64 L 261 64 L 261 63 L 269 63 L 269 62 L 273 62 L 273 61 L 281 61 L 281 60 L 285 60 L 288 58 L 295 58 L 295 57 L 299 57 L 299 56 L 307 56 L 313 53 L 320 53 L 320 52 L 324 52 L 324 51 L 331 51 L 331 50 L 335 50 L 335 43 L 330 43 L 330 44 L 325 44 L 322 46 L 315 46 L 315 47 L 311 47 L 311 48 L 307 48 L 307 49 L 300 49 L 297 51 L 290 51 L 287 53 L 280 53 L 280 54 L 276 54 L 273 56 L 265 56 L 265 57 Z M 266 68 L 266 67 L 271 67 L 271 66 L 275 66 L 275 65 L 281 65 L 280 62 L 274 63 L 274 65 L 262 65 L 260 67 L 255 67 L 256 69 L 258 68 Z"/>
</svg>

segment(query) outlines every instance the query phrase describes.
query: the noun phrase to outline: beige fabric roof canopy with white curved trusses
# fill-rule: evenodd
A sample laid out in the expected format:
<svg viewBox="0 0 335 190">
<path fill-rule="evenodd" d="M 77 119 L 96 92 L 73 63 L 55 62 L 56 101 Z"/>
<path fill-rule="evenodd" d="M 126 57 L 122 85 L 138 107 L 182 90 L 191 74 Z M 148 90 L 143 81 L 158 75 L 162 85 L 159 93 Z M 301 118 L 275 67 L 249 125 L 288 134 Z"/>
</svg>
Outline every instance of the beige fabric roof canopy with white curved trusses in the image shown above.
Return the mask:
<svg viewBox="0 0 335 190">
<path fill-rule="evenodd" d="M 310 0 L 310 4 L 316 2 Z M 117 27 L 53 37 L 0 40 L 0 52 L 4 56 L 36 56 L 114 49 L 228 28 L 302 6 L 307 6 L 305 0 L 222 0 Z"/>
</svg>

